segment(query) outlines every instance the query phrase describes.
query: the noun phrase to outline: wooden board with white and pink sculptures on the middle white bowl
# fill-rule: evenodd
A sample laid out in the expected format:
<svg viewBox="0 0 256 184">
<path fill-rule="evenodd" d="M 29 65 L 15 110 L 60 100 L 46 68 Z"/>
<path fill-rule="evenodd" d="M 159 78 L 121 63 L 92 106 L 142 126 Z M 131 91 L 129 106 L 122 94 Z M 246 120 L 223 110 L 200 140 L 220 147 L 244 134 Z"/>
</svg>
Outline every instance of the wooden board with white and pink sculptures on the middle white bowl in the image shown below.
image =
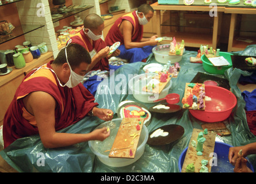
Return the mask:
<svg viewBox="0 0 256 184">
<path fill-rule="evenodd" d="M 159 74 L 155 75 L 154 78 L 152 78 L 152 80 L 142 88 L 142 91 L 160 94 L 173 76 L 173 74 L 164 74 L 164 75 L 166 75 L 165 82 L 161 82 L 161 76 Z"/>
</svg>

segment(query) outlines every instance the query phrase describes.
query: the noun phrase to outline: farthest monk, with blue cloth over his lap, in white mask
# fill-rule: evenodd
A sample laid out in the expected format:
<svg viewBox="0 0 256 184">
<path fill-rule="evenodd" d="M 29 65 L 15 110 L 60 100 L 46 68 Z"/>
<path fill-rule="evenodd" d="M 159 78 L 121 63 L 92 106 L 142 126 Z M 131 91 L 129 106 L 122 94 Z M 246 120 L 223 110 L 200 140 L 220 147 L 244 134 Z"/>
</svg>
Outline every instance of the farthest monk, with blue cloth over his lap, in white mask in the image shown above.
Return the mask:
<svg viewBox="0 0 256 184">
<path fill-rule="evenodd" d="M 125 14 L 118 18 L 110 28 L 106 36 L 106 44 L 113 45 L 120 41 L 119 57 L 127 59 L 129 63 L 146 62 L 146 58 L 152 53 L 152 48 L 158 43 L 156 37 L 143 38 L 143 25 L 153 17 L 154 9 L 150 5 L 143 4 L 137 11 Z"/>
</svg>

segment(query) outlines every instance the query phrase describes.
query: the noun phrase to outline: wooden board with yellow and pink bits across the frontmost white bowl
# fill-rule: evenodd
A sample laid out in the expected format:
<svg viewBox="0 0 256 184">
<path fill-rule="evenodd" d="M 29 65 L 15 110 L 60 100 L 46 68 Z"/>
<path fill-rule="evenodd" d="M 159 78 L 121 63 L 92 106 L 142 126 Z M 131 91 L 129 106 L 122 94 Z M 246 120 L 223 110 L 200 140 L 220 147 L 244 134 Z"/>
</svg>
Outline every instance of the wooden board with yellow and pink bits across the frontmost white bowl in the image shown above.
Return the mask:
<svg viewBox="0 0 256 184">
<path fill-rule="evenodd" d="M 110 158 L 135 158 L 143 122 L 144 118 L 123 118 L 109 152 Z"/>
</svg>

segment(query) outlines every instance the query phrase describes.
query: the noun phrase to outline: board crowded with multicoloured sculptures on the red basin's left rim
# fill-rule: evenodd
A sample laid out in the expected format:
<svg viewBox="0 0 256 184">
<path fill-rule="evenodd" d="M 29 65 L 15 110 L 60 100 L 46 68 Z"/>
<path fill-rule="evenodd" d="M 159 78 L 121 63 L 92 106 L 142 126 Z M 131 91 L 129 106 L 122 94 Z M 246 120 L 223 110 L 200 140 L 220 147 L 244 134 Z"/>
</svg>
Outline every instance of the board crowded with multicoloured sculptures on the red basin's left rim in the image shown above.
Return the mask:
<svg viewBox="0 0 256 184">
<path fill-rule="evenodd" d="M 186 83 L 184 97 L 181 102 L 184 109 L 205 110 L 205 85 Z M 193 105 L 196 105 L 197 108 L 193 108 Z"/>
</svg>

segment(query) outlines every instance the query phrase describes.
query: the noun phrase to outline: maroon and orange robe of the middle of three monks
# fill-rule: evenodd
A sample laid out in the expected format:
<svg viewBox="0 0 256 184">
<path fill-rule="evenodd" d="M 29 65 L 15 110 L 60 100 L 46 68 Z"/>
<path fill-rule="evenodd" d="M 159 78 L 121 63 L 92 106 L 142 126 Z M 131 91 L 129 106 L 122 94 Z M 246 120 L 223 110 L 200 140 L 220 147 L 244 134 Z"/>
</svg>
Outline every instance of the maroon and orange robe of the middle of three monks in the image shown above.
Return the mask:
<svg viewBox="0 0 256 184">
<path fill-rule="evenodd" d="M 89 39 L 85 35 L 85 32 L 81 30 L 74 36 L 71 36 L 72 43 L 77 43 L 79 45 L 82 45 L 88 52 L 93 51 L 95 49 L 97 52 L 99 52 L 101 49 L 106 47 L 105 41 L 102 39 L 98 39 L 96 41 L 93 41 L 93 44 L 91 45 Z M 95 64 L 91 70 L 109 70 L 109 60 L 107 57 L 102 58 L 98 63 Z"/>
</svg>

